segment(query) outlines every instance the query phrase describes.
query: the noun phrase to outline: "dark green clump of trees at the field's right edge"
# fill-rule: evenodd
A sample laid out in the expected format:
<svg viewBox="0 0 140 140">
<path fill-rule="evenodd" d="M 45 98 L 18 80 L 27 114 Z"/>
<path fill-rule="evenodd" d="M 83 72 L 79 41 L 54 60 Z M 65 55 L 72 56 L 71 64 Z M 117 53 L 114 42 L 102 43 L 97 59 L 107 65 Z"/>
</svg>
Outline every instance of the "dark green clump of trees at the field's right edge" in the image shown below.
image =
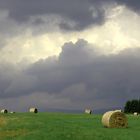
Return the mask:
<svg viewBox="0 0 140 140">
<path fill-rule="evenodd" d="M 139 100 L 129 100 L 126 102 L 124 107 L 125 113 L 140 113 L 140 99 Z"/>
</svg>

